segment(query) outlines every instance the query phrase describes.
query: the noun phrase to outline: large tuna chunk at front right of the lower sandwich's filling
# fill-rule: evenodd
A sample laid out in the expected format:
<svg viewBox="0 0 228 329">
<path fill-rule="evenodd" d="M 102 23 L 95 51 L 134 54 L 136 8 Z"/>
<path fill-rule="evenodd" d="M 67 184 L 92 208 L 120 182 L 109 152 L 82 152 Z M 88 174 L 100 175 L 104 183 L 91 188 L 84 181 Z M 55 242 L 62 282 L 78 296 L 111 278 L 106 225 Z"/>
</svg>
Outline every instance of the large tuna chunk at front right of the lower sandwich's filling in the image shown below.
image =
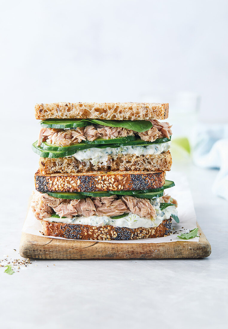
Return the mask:
<svg viewBox="0 0 228 329">
<path fill-rule="evenodd" d="M 123 196 L 121 198 L 130 212 L 145 218 L 155 218 L 156 210 L 148 199 L 140 199 L 133 196 Z"/>
</svg>

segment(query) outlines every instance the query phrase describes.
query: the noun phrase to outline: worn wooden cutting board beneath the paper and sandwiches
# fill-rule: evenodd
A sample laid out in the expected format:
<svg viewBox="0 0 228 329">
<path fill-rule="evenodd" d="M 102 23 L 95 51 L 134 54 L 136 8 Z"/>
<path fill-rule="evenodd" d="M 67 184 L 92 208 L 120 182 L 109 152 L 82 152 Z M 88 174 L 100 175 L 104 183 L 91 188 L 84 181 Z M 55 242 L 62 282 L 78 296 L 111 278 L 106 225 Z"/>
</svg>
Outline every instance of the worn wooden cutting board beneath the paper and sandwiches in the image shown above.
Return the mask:
<svg viewBox="0 0 228 329">
<path fill-rule="evenodd" d="M 199 241 L 163 243 L 110 243 L 62 240 L 22 233 L 19 252 L 25 258 L 39 259 L 171 259 L 203 258 L 211 245 L 199 228 Z M 170 236 L 171 238 L 171 236 Z"/>
</svg>

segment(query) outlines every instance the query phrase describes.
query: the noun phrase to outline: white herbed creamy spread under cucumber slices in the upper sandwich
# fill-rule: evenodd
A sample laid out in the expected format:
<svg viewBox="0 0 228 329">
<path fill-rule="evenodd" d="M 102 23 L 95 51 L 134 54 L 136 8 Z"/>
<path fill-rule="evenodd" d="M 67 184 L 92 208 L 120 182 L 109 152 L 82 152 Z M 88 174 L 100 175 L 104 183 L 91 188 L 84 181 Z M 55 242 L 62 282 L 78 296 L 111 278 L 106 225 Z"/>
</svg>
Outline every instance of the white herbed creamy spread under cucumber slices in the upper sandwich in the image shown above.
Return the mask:
<svg viewBox="0 0 228 329">
<path fill-rule="evenodd" d="M 162 152 L 166 152 L 171 147 L 171 141 L 159 143 L 159 144 L 150 144 L 145 146 L 120 146 L 117 148 L 106 147 L 106 148 L 89 148 L 82 151 L 77 151 L 72 157 L 76 158 L 77 160 L 83 162 L 86 160 L 91 161 L 93 165 L 96 164 L 107 164 L 108 156 L 109 155 L 116 155 L 116 154 L 135 154 L 137 156 L 140 155 L 157 155 L 161 154 Z"/>
</svg>

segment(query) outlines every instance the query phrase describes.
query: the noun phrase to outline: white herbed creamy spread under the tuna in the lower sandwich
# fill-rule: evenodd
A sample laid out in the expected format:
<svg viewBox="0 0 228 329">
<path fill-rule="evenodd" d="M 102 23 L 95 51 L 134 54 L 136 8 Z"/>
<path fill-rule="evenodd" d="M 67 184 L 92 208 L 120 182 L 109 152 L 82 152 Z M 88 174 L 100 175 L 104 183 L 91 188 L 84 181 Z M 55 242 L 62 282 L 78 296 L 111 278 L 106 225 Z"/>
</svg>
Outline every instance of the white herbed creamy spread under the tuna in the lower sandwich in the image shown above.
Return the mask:
<svg viewBox="0 0 228 329">
<path fill-rule="evenodd" d="M 169 206 L 163 211 L 160 209 L 159 198 L 154 198 L 150 200 L 150 203 L 156 209 L 155 218 L 145 218 L 139 217 L 139 215 L 127 214 L 122 218 L 111 218 L 108 216 L 75 216 L 72 219 L 70 218 L 55 218 L 49 217 L 44 220 L 53 221 L 57 223 L 66 223 L 66 224 L 81 224 L 81 225 L 91 225 L 91 226 L 105 226 L 112 225 L 115 227 L 129 227 L 129 228 L 138 228 L 138 227 L 157 227 L 162 223 L 163 220 L 168 219 L 172 214 L 177 215 L 177 209 L 175 206 Z"/>
</svg>

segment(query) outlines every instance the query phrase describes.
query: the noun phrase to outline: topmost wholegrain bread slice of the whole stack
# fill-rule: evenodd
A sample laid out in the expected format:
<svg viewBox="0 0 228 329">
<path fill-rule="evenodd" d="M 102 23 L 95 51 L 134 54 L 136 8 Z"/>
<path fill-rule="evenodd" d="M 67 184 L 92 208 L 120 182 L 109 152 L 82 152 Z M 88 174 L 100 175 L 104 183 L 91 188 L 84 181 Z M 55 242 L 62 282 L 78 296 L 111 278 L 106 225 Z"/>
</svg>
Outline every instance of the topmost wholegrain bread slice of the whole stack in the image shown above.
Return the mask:
<svg viewBox="0 0 228 329">
<path fill-rule="evenodd" d="M 36 104 L 36 119 L 164 120 L 167 103 L 50 103 Z"/>
</svg>

